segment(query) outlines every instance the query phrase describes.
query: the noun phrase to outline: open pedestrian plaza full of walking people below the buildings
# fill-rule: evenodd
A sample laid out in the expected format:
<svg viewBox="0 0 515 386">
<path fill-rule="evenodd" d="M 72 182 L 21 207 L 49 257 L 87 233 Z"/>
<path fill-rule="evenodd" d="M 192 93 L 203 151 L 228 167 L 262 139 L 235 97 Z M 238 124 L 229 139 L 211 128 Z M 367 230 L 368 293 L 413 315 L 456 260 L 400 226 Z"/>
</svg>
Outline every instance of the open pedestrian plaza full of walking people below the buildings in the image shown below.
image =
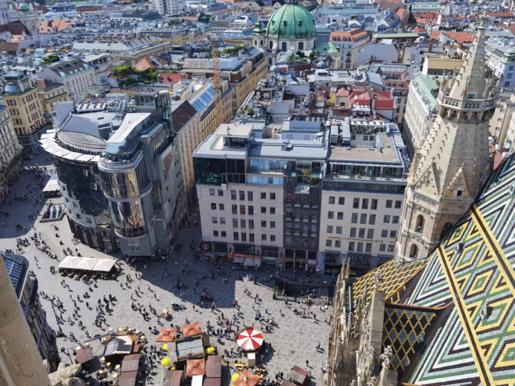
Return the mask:
<svg viewBox="0 0 515 386">
<path fill-rule="evenodd" d="M 49 166 L 44 155 L 35 157 L 34 160 L 30 161 L 30 164 L 45 165 L 48 174 L 51 173 L 50 169 L 52 167 Z M 31 166 L 30 164 L 29 166 Z M 227 280 L 224 280 L 224 276 L 215 268 L 214 262 L 209 261 L 205 255 L 199 260 L 194 259 L 191 250 L 187 247 L 188 244 L 192 243 L 192 240 L 200 240 L 200 224 L 186 227 L 182 231 L 180 240 L 183 247 L 179 252 L 170 252 L 168 259 L 156 258 L 155 260 L 145 261 L 146 269 L 143 263 L 137 264 L 135 269 L 131 268 L 120 255 L 106 255 L 87 245 L 74 242 L 66 217 L 60 221 L 39 222 L 40 217 L 34 212 L 41 211 L 46 203 L 35 202 L 36 198 L 41 198 L 41 189 L 39 187 L 37 189 L 32 188 L 34 176 L 35 174 L 32 172 L 22 174 L 20 180 L 15 183 L 9 192 L 5 204 L 0 205 L 0 211 L 3 212 L 2 224 L 0 225 L 0 245 L 2 250 L 12 249 L 14 253 L 23 254 L 30 261 L 30 268 L 38 277 L 39 290 L 49 297 L 54 295 L 59 297 L 60 302 L 63 303 L 64 312 L 62 312 L 62 317 L 64 322 L 60 324 L 60 328 L 64 335 L 57 338 L 57 347 L 64 347 L 65 349 L 64 353 L 60 352 L 62 361 L 70 363 L 73 359 L 72 350 L 78 347 L 79 343 L 89 339 L 87 332 L 90 337 L 94 338 L 96 335 L 106 334 L 109 328 L 117 330 L 118 328 L 130 327 L 145 332 L 146 347 L 150 345 L 159 347 L 162 346 L 162 343 L 156 343 L 157 335 L 149 330 L 149 328 L 153 329 L 154 326 L 159 331 L 161 328 L 182 326 L 187 320 L 191 323 L 199 322 L 201 329 L 207 329 L 208 323 L 215 330 L 222 328 L 222 325 L 216 324 L 216 318 L 220 317 L 223 312 L 226 318 L 232 319 L 233 312 L 237 312 L 237 309 L 233 306 L 233 301 L 236 300 L 241 307 L 241 315 L 239 317 L 236 315 L 232 331 L 238 331 L 245 326 L 262 328 L 265 342 L 271 344 L 271 348 L 265 354 L 263 362 L 258 359 L 258 363 L 264 363 L 270 380 L 275 380 L 274 375 L 278 371 L 283 372 L 286 376 L 291 367 L 297 365 L 311 372 L 312 384 L 321 385 L 323 383 L 321 366 L 327 367 L 327 345 L 331 329 L 329 322 L 332 307 L 322 309 L 318 306 L 311 306 L 308 309 L 306 304 L 290 302 L 286 306 L 282 300 L 273 300 L 274 282 L 270 279 L 270 274 L 276 272 L 273 270 L 267 272 L 266 268 L 263 267 L 258 271 L 258 279 L 254 284 L 252 280 L 246 279 L 247 273 L 253 273 L 253 271 L 235 270 L 232 266 L 224 264 L 221 266 L 227 277 Z M 47 180 L 48 176 L 45 182 Z M 31 198 L 26 201 L 15 199 L 16 194 L 25 195 L 28 194 L 29 190 L 32 190 Z M 52 199 L 52 202 L 59 203 L 60 200 L 60 198 Z M 5 217 L 5 212 L 9 213 L 9 217 Z M 33 217 L 34 220 L 30 217 Z M 200 221 L 200 217 L 197 214 L 190 220 Z M 18 226 L 17 230 L 16 225 L 21 225 L 21 227 Z M 55 230 L 54 225 L 57 225 L 58 231 Z M 56 237 L 56 232 L 59 237 Z M 48 244 L 58 260 L 50 258 L 46 253 L 36 248 L 35 243 L 30 239 L 35 233 L 38 234 L 39 239 Z M 16 238 L 27 238 L 29 245 L 21 247 L 21 251 L 16 251 Z M 59 241 L 62 241 L 63 245 L 60 245 Z M 50 272 L 50 267 L 54 266 L 57 271 L 57 266 L 65 257 L 63 248 L 68 247 L 74 255 L 76 255 L 77 249 L 84 257 L 114 257 L 118 259 L 121 274 L 115 278 L 97 280 L 97 287 L 91 286 L 93 292 L 89 290 L 89 285 L 82 280 L 61 276 L 57 272 L 53 274 Z M 173 247 L 170 250 L 173 250 Z M 183 270 L 186 274 L 183 274 Z M 213 278 L 211 278 L 212 272 L 214 272 Z M 140 276 L 139 273 L 141 273 L 141 278 L 137 278 Z M 127 274 L 132 278 L 130 282 L 126 282 Z M 293 276 L 291 272 L 282 274 Z M 205 278 L 201 278 L 202 275 L 205 275 Z M 177 288 L 178 278 L 184 282 L 185 288 Z M 64 286 L 60 284 L 63 279 Z M 199 283 L 195 286 L 194 282 L 197 279 Z M 333 280 L 334 277 L 320 276 L 320 280 L 323 279 Z M 206 302 L 205 308 L 195 305 L 203 287 L 207 289 L 210 296 L 213 296 L 213 301 Z M 139 291 L 136 295 L 138 288 Z M 248 289 L 250 294 L 245 293 L 245 288 Z M 182 292 L 184 296 L 181 300 Z M 90 297 L 84 299 L 82 296 L 84 293 L 88 293 Z M 259 300 L 257 301 L 254 300 L 255 294 L 258 294 Z M 79 300 L 77 300 L 77 295 L 79 295 Z M 102 300 L 104 295 L 107 297 L 109 295 L 114 296 L 116 301 L 109 302 L 111 312 L 105 314 L 105 323 L 98 327 L 94 324 L 97 314 L 95 307 L 97 301 Z M 144 320 L 143 315 L 138 310 L 131 308 L 131 296 L 136 306 L 139 303 L 141 307 L 146 308 L 149 319 Z M 45 296 L 40 295 L 40 299 L 46 311 L 47 322 L 55 331 L 58 331 L 59 325 L 52 305 L 45 299 Z M 78 307 L 76 318 L 72 316 L 74 300 Z M 171 302 L 173 301 L 183 303 L 185 309 L 173 310 L 171 308 Z M 89 308 L 85 305 L 85 302 L 89 303 Z M 212 311 L 213 302 L 217 306 L 217 310 L 214 311 Z M 156 310 L 156 314 L 149 312 L 149 306 Z M 300 311 L 299 314 L 305 311 L 305 317 L 295 314 L 295 307 Z M 161 325 L 159 325 L 158 315 L 161 315 L 161 311 L 165 308 L 169 309 L 171 320 L 170 318 L 168 320 L 160 318 Z M 265 325 L 260 326 L 260 321 L 255 320 L 256 312 L 261 313 L 265 319 L 274 319 L 275 325 L 271 327 L 271 332 L 267 332 Z M 60 311 L 56 309 L 56 313 L 59 315 Z M 316 318 L 314 318 L 315 315 Z M 71 317 L 71 324 L 68 323 L 69 317 Z M 328 322 L 325 322 L 326 319 Z M 79 326 L 79 321 L 83 325 L 82 328 Z M 225 325 L 223 327 L 225 328 Z M 75 340 L 70 339 L 71 333 L 75 336 Z M 230 350 L 231 347 L 237 347 L 234 340 L 224 338 L 218 343 L 216 337 L 213 336 L 211 337 L 211 343 L 218 349 L 219 354 L 223 354 L 224 350 Z M 89 346 L 92 347 L 95 356 L 101 357 L 103 346 L 100 345 L 98 339 L 90 341 Z M 230 370 L 226 372 L 226 376 L 230 378 L 231 374 L 234 373 L 234 361 L 241 361 L 242 359 L 237 356 L 226 357 L 226 359 L 229 359 L 230 362 Z M 306 361 L 308 361 L 307 366 Z M 92 373 L 95 371 L 93 369 Z M 166 367 L 161 365 L 160 358 L 157 358 L 143 384 L 161 384 L 165 371 Z M 94 378 L 91 378 L 91 381 L 91 384 L 98 384 L 98 381 Z M 225 381 L 222 379 L 222 384 L 228 385 L 229 383 L 230 379 Z"/>
</svg>

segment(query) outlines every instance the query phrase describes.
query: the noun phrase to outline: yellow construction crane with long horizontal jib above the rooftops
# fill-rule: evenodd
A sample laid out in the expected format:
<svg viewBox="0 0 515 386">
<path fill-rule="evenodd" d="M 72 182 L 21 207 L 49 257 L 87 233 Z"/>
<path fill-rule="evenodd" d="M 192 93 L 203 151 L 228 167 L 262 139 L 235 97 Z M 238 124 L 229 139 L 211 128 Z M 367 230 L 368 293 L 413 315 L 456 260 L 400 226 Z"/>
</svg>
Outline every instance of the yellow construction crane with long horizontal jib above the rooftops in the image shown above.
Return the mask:
<svg viewBox="0 0 515 386">
<path fill-rule="evenodd" d="M 215 123 L 216 127 L 224 123 L 224 109 L 222 107 L 222 88 L 220 84 L 220 66 L 218 63 L 218 42 L 226 43 L 245 43 L 245 40 L 239 38 L 229 38 L 226 36 L 218 36 L 216 34 L 187 34 L 187 35 L 170 35 L 163 38 L 149 37 L 148 39 L 140 37 L 106 37 L 97 42 L 148 42 L 148 43 L 164 43 L 169 42 L 171 44 L 183 44 L 183 43 L 200 43 L 210 42 L 211 43 L 211 57 L 213 59 L 213 89 L 215 92 Z"/>
</svg>

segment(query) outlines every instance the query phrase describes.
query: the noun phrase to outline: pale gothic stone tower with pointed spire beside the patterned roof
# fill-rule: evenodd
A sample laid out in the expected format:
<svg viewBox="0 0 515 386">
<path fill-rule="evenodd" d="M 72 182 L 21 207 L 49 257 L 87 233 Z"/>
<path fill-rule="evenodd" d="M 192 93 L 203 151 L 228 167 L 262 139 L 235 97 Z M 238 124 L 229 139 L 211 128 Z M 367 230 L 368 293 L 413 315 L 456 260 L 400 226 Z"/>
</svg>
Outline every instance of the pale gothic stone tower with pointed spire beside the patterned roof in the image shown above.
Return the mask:
<svg viewBox="0 0 515 386">
<path fill-rule="evenodd" d="M 484 21 L 459 75 L 444 80 L 438 115 L 408 176 L 398 261 L 426 257 L 463 216 L 491 171 L 488 121 L 495 109 L 485 79 Z"/>
</svg>

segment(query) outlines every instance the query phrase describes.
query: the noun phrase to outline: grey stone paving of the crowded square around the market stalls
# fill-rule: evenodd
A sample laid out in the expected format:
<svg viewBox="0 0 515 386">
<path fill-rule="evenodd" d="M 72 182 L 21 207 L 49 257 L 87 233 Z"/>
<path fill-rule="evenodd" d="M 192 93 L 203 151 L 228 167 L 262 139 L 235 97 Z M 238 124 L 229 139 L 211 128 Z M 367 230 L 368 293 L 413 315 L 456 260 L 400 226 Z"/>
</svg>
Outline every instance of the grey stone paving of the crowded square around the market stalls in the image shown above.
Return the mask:
<svg viewBox="0 0 515 386">
<path fill-rule="evenodd" d="M 36 157 L 33 163 L 38 165 L 46 165 L 47 161 L 44 156 Z M 0 222 L 6 221 L 7 224 L 4 226 L 0 225 L 0 248 L 5 250 L 7 248 L 16 248 L 16 237 L 26 237 L 30 241 L 30 236 L 34 232 L 39 232 L 41 238 L 50 246 L 53 252 L 55 252 L 62 260 L 64 254 L 62 252 L 63 246 L 70 247 L 74 250 L 75 248 L 81 253 L 82 256 L 94 256 L 94 257 L 107 257 L 104 253 L 91 249 L 87 245 L 77 244 L 74 245 L 72 242 L 72 234 L 70 227 L 67 223 L 66 218 L 61 221 L 40 223 L 38 220 L 30 220 L 29 215 L 33 214 L 33 211 L 40 210 L 43 204 L 36 204 L 33 197 L 28 201 L 16 201 L 14 200 L 14 193 L 25 194 L 28 193 L 28 186 L 34 181 L 33 173 L 23 174 L 13 189 L 11 189 L 9 196 L 6 200 L 6 204 L 0 205 L 0 211 L 4 214 L 9 213 L 9 218 L 5 215 L 0 218 Z M 32 189 L 34 192 L 34 190 Z M 53 202 L 59 202 L 60 199 L 53 200 Z M 11 204 L 10 204 L 11 203 Z M 33 205 L 34 204 L 34 205 Z M 34 217 L 36 219 L 36 215 Z M 193 217 L 192 220 L 196 218 Z M 21 224 L 27 227 L 26 231 L 16 231 L 15 225 Z M 54 224 L 59 227 L 58 234 L 59 238 L 56 238 L 54 230 Z M 31 229 L 31 226 L 35 226 L 35 230 Z M 188 245 L 191 243 L 193 238 L 200 239 L 200 226 L 193 226 L 186 228 L 181 236 L 180 240 L 183 243 L 183 248 L 177 255 L 174 253 L 170 257 L 169 261 L 152 261 L 149 262 L 147 269 L 142 269 L 142 278 L 136 279 L 130 283 L 130 288 L 125 287 L 125 275 L 128 273 L 133 278 L 135 271 L 127 267 L 125 262 L 122 261 L 122 275 L 116 279 L 110 280 L 99 280 L 98 288 L 94 288 L 90 299 L 83 299 L 81 297 L 78 306 L 80 308 L 79 315 L 80 320 L 87 327 L 89 334 L 94 337 L 96 334 L 103 334 L 107 331 L 110 326 L 114 329 L 118 327 L 129 326 L 141 331 L 149 332 L 149 326 L 157 326 L 157 317 L 151 315 L 149 322 L 145 322 L 141 314 L 131 309 L 130 295 L 134 295 L 134 291 L 139 286 L 141 288 L 140 295 L 135 296 L 136 302 L 139 302 L 142 306 L 147 307 L 149 303 L 152 307 L 156 308 L 158 313 L 165 307 L 169 307 L 170 302 L 173 300 L 180 301 L 180 292 L 184 291 L 185 297 L 183 303 L 186 305 L 185 310 L 171 311 L 173 320 L 167 322 L 165 327 L 169 327 L 169 324 L 183 325 L 187 318 L 190 322 L 198 321 L 201 328 L 205 328 L 209 321 L 211 325 L 216 324 L 216 317 L 221 312 L 228 317 L 232 317 L 235 309 L 232 306 L 232 302 L 236 299 L 239 305 L 242 307 L 242 317 L 238 318 L 237 325 L 233 326 L 233 330 L 244 325 L 259 326 L 259 322 L 254 320 L 254 309 L 259 310 L 263 315 L 266 316 L 268 312 L 269 317 L 273 317 L 277 322 L 277 327 L 273 329 L 273 332 L 265 332 L 265 341 L 271 343 L 272 348 L 268 355 L 264 358 L 266 363 L 268 374 L 271 379 L 274 379 L 274 375 L 277 371 L 282 371 L 286 374 L 289 372 L 291 366 L 299 365 L 309 371 L 312 375 L 312 384 L 321 384 L 323 382 L 323 375 L 321 372 L 321 365 L 324 364 L 327 367 L 327 342 L 329 337 L 330 325 L 324 322 L 324 319 L 329 320 L 331 308 L 328 310 L 320 310 L 318 308 L 307 310 L 303 305 L 297 305 L 300 310 L 306 311 L 306 317 L 301 318 L 294 314 L 293 307 L 285 307 L 284 302 L 279 300 L 272 300 L 273 283 L 270 280 L 265 279 L 268 276 L 266 269 L 261 268 L 258 273 L 258 284 L 252 282 L 246 282 L 240 280 L 241 276 L 245 276 L 245 271 L 232 270 L 231 267 L 226 267 L 228 270 L 228 280 L 224 283 L 222 277 L 216 275 L 212 280 L 209 278 L 210 271 L 213 268 L 213 264 L 205 260 L 202 261 L 194 260 L 192 253 Z M 64 242 L 64 245 L 59 245 L 59 240 Z M 72 280 L 65 278 L 65 282 L 70 286 L 70 289 L 62 287 L 59 282 L 62 277 L 59 274 L 52 275 L 49 272 L 50 266 L 56 266 L 59 261 L 49 258 L 45 253 L 39 251 L 33 243 L 27 248 L 23 248 L 23 254 L 30 261 L 30 267 L 35 271 L 38 279 L 40 290 L 46 294 L 55 294 L 59 296 L 59 299 L 63 302 L 65 312 L 63 318 L 65 323 L 62 324 L 62 329 L 65 334 L 64 338 L 58 338 L 57 346 L 65 348 L 77 347 L 77 342 L 71 341 L 68 336 L 70 332 L 73 332 L 78 341 L 88 339 L 85 335 L 85 330 L 81 330 L 77 325 L 77 320 L 74 320 L 73 325 L 66 322 L 68 315 L 73 312 L 73 303 L 70 299 L 70 295 L 76 297 L 77 294 L 83 294 L 88 291 L 88 286 L 82 282 L 82 280 Z M 115 256 L 120 257 L 120 256 Z M 37 261 L 36 261 L 37 258 Z M 182 269 L 185 269 L 187 274 L 182 275 Z M 170 273 L 170 276 L 165 275 L 165 270 Z M 206 274 L 208 278 L 202 279 L 198 286 L 197 293 L 193 291 L 193 281 L 199 277 L 199 275 Z M 186 283 L 186 288 L 178 291 L 176 286 L 172 282 L 176 283 L 177 276 L 180 276 L 181 280 Z M 123 289 L 120 284 L 123 283 Z M 150 286 L 150 290 L 147 289 Z M 201 292 L 202 287 L 207 287 L 208 292 L 214 296 L 215 302 L 219 308 L 219 312 L 212 313 L 211 308 L 199 308 L 196 307 L 194 310 L 192 305 L 198 295 Z M 261 299 L 260 302 L 254 303 L 252 297 L 244 295 L 244 287 L 247 286 L 250 292 L 258 293 Z M 96 306 L 98 299 L 101 299 L 104 294 L 112 294 L 116 296 L 117 302 L 114 302 L 114 310 L 112 314 L 106 315 L 107 325 L 102 324 L 102 328 L 98 328 L 94 325 L 94 318 L 96 311 L 94 309 L 88 309 L 85 306 L 84 301 L 88 301 L 90 307 Z M 52 307 L 46 300 L 42 300 L 42 305 L 47 313 L 47 321 L 55 330 L 58 330 L 56 319 L 54 317 Z M 209 304 L 209 307 L 211 304 Z M 206 306 L 208 307 L 208 305 Z M 266 311 L 267 310 L 267 311 Z M 281 311 L 281 312 L 280 312 Z M 316 319 L 313 318 L 316 315 Z M 218 326 L 216 326 L 218 327 Z M 221 326 L 220 326 L 221 327 Z M 153 334 L 146 334 L 148 339 L 147 346 L 150 344 L 156 344 L 156 336 Z M 216 339 L 212 338 L 212 344 L 216 344 Z M 317 343 L 321 343 L 321 348 L 317 349 Z M 98 340 L 94 340 L 91 343 L 91 347 L 94 350 L 95 355 L 101 356 L 102 347 Z M 223 340 L 221 344 L 218 344 L 218 350 L 223 353 L 224 349 L 230 349 L 235 347 L 234 341 Z M 70 350 L 71 351 L 71 350 Z M 234 358 L 239 359 L 239 358 Z M 61 353 L 61 360 L 64 362 L 70 362 L 68 355 Z M 306 367 L 306 361 L 309 361 Z M 230 365 L 232 368 L 232 365 Z M 98 370 L 98 367 L 94 368 L 93 371 Z M 163 366 L 160 364 L 155 367 L 149 377 L 144 381 L 144 384 L 161 384 L 163 374 Z M 229 376 L 232 372 L 226 372 Z M 96 380 L 93 380 L 92 384 Z"/>
</svg>

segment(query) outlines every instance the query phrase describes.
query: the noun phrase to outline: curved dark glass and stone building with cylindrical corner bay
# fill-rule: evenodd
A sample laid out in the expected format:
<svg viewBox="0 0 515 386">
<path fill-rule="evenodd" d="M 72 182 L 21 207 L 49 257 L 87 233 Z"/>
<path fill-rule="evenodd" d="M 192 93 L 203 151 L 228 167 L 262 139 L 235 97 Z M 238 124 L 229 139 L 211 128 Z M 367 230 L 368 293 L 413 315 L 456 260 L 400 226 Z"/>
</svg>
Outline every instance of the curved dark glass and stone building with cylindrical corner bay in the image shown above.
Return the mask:
<svg viewBox="0 0 515 386">
<path fill-rule="evenodd" d="M 41 145 L 53 157 L 74 235 L 106 252 L 151 256 L 178 235 L 186 200 L 177 144 L 159 120 L 163 97 L 141 92 L 135 101 L 135 113 L 70 110 Z"/>
</svg>

